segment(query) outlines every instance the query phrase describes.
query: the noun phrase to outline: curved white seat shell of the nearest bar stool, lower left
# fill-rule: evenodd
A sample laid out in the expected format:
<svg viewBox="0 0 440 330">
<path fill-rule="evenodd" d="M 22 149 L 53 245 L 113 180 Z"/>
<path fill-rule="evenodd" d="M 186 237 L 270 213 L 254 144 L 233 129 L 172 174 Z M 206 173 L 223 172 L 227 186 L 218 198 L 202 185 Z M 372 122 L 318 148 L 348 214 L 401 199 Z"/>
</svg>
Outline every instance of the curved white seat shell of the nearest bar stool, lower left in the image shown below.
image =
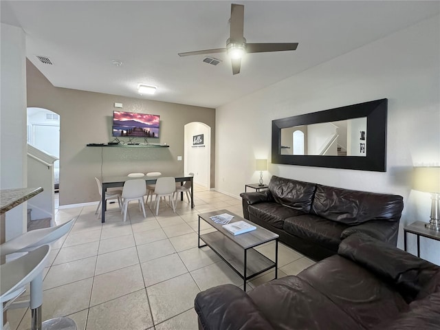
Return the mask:
<svg viewBox="0 0 440 330">
<path fill-rule="evenodd" d="M 39 274 L 43 274 L 49 254 L 50 246 L 43 245 L 18 259 L 0 265 L 1 303 L 14 298 L 10 294 L 30 283 Z M 43 300 L 43 290 L 41 290 L 41 300 Z"/>
</svg>

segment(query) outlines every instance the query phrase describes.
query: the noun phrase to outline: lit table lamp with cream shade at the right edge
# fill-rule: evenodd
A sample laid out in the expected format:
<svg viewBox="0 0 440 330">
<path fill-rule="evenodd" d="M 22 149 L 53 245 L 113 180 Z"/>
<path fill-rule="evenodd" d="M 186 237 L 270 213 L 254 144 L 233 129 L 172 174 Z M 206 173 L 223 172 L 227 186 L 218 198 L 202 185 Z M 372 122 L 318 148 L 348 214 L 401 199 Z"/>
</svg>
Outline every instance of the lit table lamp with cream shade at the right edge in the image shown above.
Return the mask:
<svg viewBox="0 0 440 330">
<path fill-rule="evenodd" d="M 440 231 L 440 166 L 415 167 L 412 188 L 430 192 L 431 217 L 425 227 Z"/>
</svg>

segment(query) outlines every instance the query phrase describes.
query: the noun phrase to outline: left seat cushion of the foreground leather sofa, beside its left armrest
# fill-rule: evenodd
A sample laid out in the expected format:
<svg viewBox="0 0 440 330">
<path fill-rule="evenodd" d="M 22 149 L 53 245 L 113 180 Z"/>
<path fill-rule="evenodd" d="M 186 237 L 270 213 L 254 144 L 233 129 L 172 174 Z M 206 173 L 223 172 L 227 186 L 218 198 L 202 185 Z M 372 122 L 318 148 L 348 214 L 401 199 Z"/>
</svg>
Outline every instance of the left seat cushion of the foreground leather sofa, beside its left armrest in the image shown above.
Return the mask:
<svg viewBox="0 0 440 330">
<path fill-rule="evenodd" d="M 296 276 L 270 281 L 248 295 L 274 329 L 364 330 L 327 296 Z"/>
</svg>

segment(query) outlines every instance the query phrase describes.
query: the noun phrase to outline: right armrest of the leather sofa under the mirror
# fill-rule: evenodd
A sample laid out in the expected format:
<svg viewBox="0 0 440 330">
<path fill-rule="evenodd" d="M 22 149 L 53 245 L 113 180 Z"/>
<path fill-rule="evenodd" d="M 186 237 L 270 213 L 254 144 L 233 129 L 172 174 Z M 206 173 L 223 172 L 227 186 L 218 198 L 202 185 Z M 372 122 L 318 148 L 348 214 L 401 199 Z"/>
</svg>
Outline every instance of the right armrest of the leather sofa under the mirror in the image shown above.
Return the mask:
<svg viewBox="0 0 440 330">
<path fill-rule="evenodd" d="M 379 241 L 388 242 L 396 246 L 399 221 L 371 220 L 360 223 L 359 225 L 351 225 L 342 231 L 340 236 L 341 241 L 356 232 L 367 234 Z"/>
</svg>

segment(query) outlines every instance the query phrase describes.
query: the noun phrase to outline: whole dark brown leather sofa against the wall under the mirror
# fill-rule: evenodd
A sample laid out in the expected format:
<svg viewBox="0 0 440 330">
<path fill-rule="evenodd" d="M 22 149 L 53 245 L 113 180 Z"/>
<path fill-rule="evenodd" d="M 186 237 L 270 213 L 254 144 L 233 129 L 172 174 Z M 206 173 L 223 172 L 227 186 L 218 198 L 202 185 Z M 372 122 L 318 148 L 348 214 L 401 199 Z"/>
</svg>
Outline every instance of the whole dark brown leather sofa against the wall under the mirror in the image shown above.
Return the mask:
<svg viewBox="0 0 440 330">
<path fill-rule="evenodd" d="M 342 239 L 363 232 L 397 244 L 403 198 L 272 176 L 269 188 L 243 192 L 243 215 L 280 235 L 280 241 L 321 260 Z"/>
</svg>

